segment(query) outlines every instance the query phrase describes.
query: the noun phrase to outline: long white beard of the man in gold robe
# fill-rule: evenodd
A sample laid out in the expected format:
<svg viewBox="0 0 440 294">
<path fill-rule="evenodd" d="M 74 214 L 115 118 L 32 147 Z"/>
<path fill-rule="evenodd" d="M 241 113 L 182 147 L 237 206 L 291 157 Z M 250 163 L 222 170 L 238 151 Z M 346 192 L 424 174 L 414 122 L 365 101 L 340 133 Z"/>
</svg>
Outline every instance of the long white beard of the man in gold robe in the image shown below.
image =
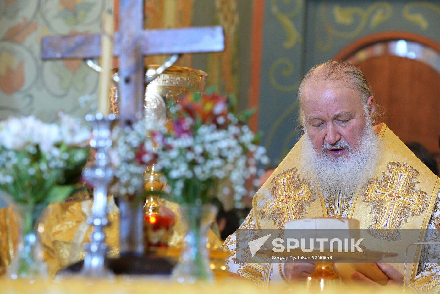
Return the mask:
<svg viewBox="0 0 440 294">
<path fill-rule="evenodd" d="M 372 176 L 378 160 L 378 136 L 367 121 L 358 144 L 359 150 L 353 151 L 350 145 L 338 141 L 334 145 L 324 142 L 323 151 L 317 154 L 312 141 L 304 130 L 304 176 L 312 181 L 312 189 L 320 187 L 324 195 L 331 195 L 336 190 L 345 191 L 345 195 L 353 195 L 356 189 Z M 325 150 L 329 147 L 338 149 L 347 147 L 348 155 L 333 157 Z M 317 190 L 315 190 L 317 192 Z"/>
</svg>

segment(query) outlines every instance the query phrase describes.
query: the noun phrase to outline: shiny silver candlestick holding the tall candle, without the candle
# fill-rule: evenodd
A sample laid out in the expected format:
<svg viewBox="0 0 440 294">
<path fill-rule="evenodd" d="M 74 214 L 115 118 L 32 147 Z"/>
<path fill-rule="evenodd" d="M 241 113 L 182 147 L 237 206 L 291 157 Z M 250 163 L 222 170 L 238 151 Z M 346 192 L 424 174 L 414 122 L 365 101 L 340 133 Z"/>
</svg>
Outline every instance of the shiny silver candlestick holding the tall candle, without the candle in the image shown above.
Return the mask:
<svg viewBox="0 0 440 294">
<path fill-rule="evenodd" d="M 112 144 L 110 140 L 111 127 L 115 121 L 114 114 L 104 116 L 101 113 L 88 114 L 86 121 L 92 122 L 93 132 L 90 146 L 96 149 L 95 164 L 83 170 L 84 178 L 93 184 L 92 216 L 87 223 L 93 226 L 89 236 L 89 243 L 84 244 L 86 256 L 81 274 L 92 278 L 111 276 L 104 265 L 107 253 L 107 244 L 104 242 L 104 227 L 107 219 L 107 192 L 108 185 L 114 176 L 110 165 L 108 151 Z"/>
</svg>

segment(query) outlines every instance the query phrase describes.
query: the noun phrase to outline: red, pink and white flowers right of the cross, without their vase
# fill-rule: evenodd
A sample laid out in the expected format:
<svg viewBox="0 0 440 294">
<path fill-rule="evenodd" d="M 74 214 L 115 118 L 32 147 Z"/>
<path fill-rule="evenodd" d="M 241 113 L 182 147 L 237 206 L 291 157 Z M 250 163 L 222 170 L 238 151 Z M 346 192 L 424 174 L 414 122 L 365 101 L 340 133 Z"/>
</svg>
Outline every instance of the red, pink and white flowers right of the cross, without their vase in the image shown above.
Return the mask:
<svg viewBox="0 0 440 294">
<path fill-rule="evenodd" d="M 258 164 L 268 163 L 268 157 L 257 145 L 259 135 L 246 125 L 252 112 L 246 110 L 237 118 L 229 104 L 215 94 L 187 95 L 170 107 L 167 126 L 152 132 L 156 147 L 150 143 L 146 149 L 157 158 L 156 169 L 171 188 L 169 200 L 202 205 L 220 192 L 232 194 L 236 208 L 242 208 L 248 195 L 246 180 L 257 174 Z"/>
</svg>

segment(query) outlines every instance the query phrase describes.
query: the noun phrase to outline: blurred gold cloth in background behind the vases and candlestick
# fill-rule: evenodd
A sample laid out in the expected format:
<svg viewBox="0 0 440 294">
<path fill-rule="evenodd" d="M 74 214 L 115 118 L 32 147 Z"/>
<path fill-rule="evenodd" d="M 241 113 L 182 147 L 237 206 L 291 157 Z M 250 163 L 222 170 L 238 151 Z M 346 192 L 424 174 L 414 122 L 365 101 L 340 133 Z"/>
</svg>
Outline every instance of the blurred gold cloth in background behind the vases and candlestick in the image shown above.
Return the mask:
<svg viewBox="0 0 440 294">
<path fill-rule="evenodd" d="M 44 259 L 48 264 L 50 276 L 57 271 L 84 259 L 83 244 L 88 242 L 88 235 L 92 227 L 86 223 L 91 215 L 92 199 L 80 201 L 76 197 L 65 202 L 57 202 L 48 206 L 44 215 L 44 232 L 41 234 L 41 242 L 44 246 Z M 183 243 L 186 233 L 184 222 L 181 221 L 179 205 L 169 201 L 163 201 L 175 213 L 175 225 L 169 246 L 179 248 Z M 119 209 L 114 202 L 113 196 L 108 198 L 109 226 L 104 228 L 106 243 L 110 248 L 109 255 L 119 254 Z M 0 274 L 14 257 L 15 246 L 18 241 L 18 225 L 15 220 L 13 207 L 8 206 L 0 209 Z M 220 247 L 222 241 L 210 230 L 208 232 L 209 243 Z"/>
</svg>

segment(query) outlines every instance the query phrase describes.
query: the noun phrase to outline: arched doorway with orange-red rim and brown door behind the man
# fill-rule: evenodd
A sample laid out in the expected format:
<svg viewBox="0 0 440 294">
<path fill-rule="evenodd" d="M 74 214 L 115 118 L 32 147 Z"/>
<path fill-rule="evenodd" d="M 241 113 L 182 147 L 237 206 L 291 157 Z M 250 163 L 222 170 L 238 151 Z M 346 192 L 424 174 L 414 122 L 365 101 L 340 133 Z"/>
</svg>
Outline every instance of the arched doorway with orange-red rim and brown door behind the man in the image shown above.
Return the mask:
<svg viewBox="0 0 440 294">
<path fill-rule="evenodd" d="M 440 44 L 407 32 L 364 37 L 334 60 L 358 66 L 378 103 L 382 120 L 407 142 L 422 143 L 440 157 Z"/>
</svg>

